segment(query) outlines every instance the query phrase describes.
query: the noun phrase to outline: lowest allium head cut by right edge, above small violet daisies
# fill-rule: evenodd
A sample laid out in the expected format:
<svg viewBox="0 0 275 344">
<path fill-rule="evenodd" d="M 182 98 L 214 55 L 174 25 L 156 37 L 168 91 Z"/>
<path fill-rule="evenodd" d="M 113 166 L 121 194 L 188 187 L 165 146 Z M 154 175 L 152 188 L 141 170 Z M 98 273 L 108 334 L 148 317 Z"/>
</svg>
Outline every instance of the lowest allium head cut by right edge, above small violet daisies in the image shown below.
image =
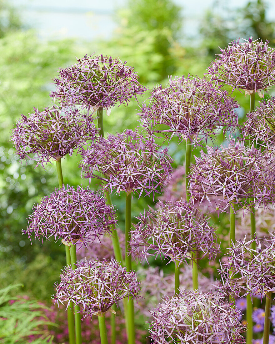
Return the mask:
<svg viewBox="0 0 275 344">
<path fill-rule="evenodd" d="M 250 248 L 256 240 L 255 250 Z M 261 299 L 275 291 L 275 237 L 232 244 L 228 261 L 221 263 L 221 290 L 243 296 L 255 293 Z M 267 296 L 268 297 L 268 296 Z"/>
</svg>

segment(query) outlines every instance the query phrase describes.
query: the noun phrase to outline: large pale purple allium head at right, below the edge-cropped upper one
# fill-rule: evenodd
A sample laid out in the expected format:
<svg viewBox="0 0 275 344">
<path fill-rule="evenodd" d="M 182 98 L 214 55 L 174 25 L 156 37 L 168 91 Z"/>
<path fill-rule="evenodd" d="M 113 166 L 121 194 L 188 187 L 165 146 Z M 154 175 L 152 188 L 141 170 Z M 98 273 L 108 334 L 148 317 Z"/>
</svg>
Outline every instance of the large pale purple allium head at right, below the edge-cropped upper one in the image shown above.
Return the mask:
<svg viewBox="0 0 275 344">
<path fill-rule="evenodd" d="M 207 154 L 201 151 L 201 158 L 195 160 L 190 191 L 201 202 L 206 198 L 211 204 L 209 197 L 216 197 L 217 211 L 228 204 L 246 211 L 251 205 L 267 206 L 274 200 L 274 160 L 269 154 L 230 139 L 227 147 L 207 147 Z"/>
</svg>

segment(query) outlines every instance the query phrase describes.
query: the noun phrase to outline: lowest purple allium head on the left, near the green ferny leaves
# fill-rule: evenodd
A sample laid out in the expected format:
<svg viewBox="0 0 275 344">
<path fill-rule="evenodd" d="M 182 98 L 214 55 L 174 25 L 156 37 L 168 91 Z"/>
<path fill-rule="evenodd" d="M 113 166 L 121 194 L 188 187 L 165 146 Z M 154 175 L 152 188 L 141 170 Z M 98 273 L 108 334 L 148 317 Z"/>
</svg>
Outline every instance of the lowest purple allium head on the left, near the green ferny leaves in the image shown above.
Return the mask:
<svg viewBox="0 0 275 344">
<path fill-rule="evenodd" d="M 126 272 L 114 259 L 78 261 L 76 269 L 67 266 L 55 284 L 54 299 L 59 303 L 79 305 L 85 316 L 105 313 L 124 298 L 138 299 L 139 282 L 136 273 Z"/>
</svg>

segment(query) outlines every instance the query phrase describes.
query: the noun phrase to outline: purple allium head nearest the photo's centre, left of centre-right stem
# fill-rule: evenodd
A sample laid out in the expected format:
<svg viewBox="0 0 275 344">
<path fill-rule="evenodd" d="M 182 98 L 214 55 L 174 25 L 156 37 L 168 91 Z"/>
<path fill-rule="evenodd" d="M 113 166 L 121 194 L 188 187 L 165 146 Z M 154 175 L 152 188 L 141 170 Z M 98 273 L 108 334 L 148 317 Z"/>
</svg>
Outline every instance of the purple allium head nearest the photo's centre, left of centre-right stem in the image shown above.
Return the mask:
<svg viewBox="0 0 275 344">
<path fill-rule="evenodd" d="M 121 191 L 158 192 L 172 170 L 168 149 L 161 149 L 152 136 L 143 137 L 126 129 L 122 134 L 99 138 L 87 150 L 82 150 L 82 169 L 87 178 L 103 177 L 103 188 Z"/>
</svg>

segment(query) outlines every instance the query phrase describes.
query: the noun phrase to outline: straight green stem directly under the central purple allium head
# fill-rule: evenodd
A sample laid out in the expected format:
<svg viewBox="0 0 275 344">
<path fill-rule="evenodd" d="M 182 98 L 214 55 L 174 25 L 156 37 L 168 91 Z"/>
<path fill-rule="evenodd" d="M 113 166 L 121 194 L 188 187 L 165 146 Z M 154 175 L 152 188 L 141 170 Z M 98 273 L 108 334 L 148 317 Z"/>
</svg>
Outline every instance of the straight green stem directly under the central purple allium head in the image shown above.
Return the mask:
<svg viewBox="0 0 275 344">
<path fill-rule="evenodd" d="M 128 253 L 131 251 L 131 201 L 133 192 L 126 193 L 125 208 L 125 265 L 126 271 L 132 270 L 132 257 Z M 134 324 L 134 300 L 129 299 L 126 311 L 126 323 L 128 327 L 128 344 L 135 343 L 135 324 Z"/>
</svg>

